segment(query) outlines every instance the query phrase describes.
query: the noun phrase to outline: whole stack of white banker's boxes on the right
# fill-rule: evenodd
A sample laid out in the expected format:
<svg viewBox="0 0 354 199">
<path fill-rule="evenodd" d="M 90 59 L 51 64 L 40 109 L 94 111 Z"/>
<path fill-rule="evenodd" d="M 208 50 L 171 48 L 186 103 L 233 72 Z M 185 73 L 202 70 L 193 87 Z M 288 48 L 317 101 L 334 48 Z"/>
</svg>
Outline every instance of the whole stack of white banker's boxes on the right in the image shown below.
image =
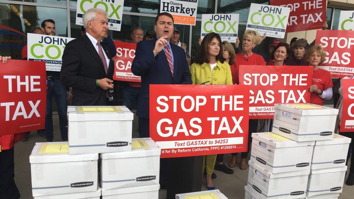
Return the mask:
<svg viewBox="0 0 354 199">
<path fill-rule="evenodd" d="M 337 109 L 275 104 L 273 133 L 253 133 L 245 198 L 337 198 L 350 138 L 334 135 Z"/>
</svg>

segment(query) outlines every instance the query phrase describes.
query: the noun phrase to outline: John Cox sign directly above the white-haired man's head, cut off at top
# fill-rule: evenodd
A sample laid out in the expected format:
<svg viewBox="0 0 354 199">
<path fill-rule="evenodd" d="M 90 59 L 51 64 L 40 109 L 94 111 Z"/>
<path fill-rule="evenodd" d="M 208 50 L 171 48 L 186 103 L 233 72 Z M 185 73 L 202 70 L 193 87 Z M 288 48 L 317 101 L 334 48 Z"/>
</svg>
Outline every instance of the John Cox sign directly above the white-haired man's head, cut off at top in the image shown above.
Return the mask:
<svg viewBox="0 0 354 199">
<path fill-rule="evenodd" d="M 76 23 L 82 24 L 82 16 L 90 8 L 101 8 L 108 14 L 108 28 L 120 31 L 123 16 L 124 0 L 78 0 L 76 5 Z"/>
</svg>

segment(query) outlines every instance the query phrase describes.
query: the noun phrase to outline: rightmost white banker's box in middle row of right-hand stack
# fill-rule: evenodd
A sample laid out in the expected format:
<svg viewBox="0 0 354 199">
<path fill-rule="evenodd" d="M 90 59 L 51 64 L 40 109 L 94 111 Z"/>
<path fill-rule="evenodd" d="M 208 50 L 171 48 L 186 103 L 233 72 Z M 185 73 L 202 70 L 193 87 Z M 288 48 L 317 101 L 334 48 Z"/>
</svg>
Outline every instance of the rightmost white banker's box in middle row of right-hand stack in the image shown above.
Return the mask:
<svg viewBox="0 0 354 199">
<path fill-rule="evenodd" d="M 333 140 L 316 141 L 311 169 L 326 169 L 346 166 L 349 143 L 352 139 L 338 134 Z"/>
</svg>

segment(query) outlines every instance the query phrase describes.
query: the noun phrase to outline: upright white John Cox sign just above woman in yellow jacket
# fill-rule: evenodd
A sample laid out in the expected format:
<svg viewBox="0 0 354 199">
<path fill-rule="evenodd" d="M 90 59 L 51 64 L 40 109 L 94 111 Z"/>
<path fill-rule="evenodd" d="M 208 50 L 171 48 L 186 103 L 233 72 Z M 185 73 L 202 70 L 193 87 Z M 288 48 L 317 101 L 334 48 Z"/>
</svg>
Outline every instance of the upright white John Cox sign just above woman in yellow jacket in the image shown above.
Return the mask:
<svg viewBox="0 0 354 199">
<path fill-rule="evenodd" d="M 236 42 L 239 30 L 239 14 L 201 15 L 201 38 L 211 32 L 218 33 L 222 41 Z"/>
</svg>

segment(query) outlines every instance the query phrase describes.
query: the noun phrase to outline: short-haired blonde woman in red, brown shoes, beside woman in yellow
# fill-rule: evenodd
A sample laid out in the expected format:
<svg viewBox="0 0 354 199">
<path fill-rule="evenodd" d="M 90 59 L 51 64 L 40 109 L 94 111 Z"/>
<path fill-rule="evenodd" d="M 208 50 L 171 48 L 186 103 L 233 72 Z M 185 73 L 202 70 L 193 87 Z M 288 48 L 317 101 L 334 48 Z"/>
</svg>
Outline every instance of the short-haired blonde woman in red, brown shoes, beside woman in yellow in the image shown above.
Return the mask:
<svg viewBox="0 0 354 199">
<path fill-rule="evenodd" d="M 261 37 L 254 30 L 246 30 L 242 38 L 243 52 L 236 54 L 234 67 L 231 67 L 231 74 L 234 84 L 239 83 L 239 66 L 240 65 L 258 65 L 265 66 L 265 61 L 261 55 L 252 52 L 252 49 L 259 43 Z M 248 150 L 241 153 L 240 169 L 247 169 L 247 155 L 250 150 L 252 142 L 252 133 L 257 132 L 258 119 L 249 120 L 249 133 L 248 133 Z M 232 154 L 229 167 L 235 167 L 237 161 L 237 153 Z"/>
</svg>

